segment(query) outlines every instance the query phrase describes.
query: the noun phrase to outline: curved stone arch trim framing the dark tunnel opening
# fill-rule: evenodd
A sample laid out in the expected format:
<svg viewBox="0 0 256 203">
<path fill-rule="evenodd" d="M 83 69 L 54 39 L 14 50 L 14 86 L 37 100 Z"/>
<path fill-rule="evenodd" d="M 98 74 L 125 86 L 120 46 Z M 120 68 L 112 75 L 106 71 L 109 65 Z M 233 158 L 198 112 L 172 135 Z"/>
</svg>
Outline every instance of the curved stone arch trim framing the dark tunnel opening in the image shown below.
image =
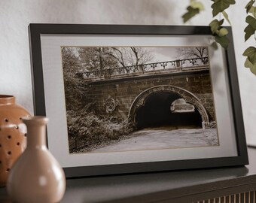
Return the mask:
<svg viewBox="0 0 256 203">
<path fill-rule="evenodd" d="M 196 95 L 193 93 L 187 91 L 186 89 L 182 89 L 178 86 L 170 86 L 170 85 L 161 85 L 161 86 L 154 86 L 148 89 L 145 89 L 143 92 L 141 92 L 133 101 L 128 119 L 131 123 L 136 123 L 136 113 L 137 110 L 145 105 L 146 100 L 148 97 L 153 93 L 158 92 L 172 92 L 175 94 L 178 94 L 181 96 L 181 98 L 184 98 L 184 100 L 194 105 L 195 108 L 197 108 L 197 111 L 200 113 L 200 116 L 202 118 L 202 127 L 203 129 L 206 128 L 207 124 L 209 124 L 209 115 L 207 114 L 206 108 L 203 106 L 203 103 L 200 101 L 199 98 L 197 98 Z"/>
</svg>

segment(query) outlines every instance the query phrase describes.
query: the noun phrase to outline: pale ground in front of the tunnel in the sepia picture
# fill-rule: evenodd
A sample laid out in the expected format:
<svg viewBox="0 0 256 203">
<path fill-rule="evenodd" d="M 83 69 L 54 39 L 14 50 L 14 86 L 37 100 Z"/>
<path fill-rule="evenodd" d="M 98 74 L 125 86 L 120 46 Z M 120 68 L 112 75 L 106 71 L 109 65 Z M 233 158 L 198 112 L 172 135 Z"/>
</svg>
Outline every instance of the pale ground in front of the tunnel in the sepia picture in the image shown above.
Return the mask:
<svg viewBox="0 0 256 203">
<path fill-rule="evenodd" d="M 131 136 L 91 153 L 218 145 L 217 129 L 143 129 Z"/>
</svg>

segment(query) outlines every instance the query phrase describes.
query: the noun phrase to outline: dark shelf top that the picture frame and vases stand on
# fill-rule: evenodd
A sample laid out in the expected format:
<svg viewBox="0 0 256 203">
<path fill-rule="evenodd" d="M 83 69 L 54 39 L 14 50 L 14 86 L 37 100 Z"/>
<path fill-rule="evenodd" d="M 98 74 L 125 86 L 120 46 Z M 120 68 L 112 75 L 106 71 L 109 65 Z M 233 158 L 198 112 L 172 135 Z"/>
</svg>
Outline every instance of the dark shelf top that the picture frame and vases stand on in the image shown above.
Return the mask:
<svg viewBox="0 0 256 203">
<path fill-rule="evenodd" d="M 68 179 L 61 202 L 185 202 L 214 191 L 248 192 L 256 190 L 256 148 L 249 147 L 248 156 L 250 164 L 240 167 Z M 5 188 L 0 202 L 11 202 Z"/>
</svg>

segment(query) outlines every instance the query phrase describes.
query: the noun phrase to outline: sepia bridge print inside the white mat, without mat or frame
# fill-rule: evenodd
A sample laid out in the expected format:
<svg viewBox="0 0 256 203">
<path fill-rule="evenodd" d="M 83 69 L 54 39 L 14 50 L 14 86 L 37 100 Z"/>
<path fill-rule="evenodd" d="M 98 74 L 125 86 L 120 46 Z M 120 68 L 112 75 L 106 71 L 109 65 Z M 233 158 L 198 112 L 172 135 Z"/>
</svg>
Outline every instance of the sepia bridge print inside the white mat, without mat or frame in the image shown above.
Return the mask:
<svg viewBox="0 0 256 203">
<path fill-rule="evenodd" d="M 69 153 L 219 146 L 208 47 L 61 47 Z"/>
</svg>

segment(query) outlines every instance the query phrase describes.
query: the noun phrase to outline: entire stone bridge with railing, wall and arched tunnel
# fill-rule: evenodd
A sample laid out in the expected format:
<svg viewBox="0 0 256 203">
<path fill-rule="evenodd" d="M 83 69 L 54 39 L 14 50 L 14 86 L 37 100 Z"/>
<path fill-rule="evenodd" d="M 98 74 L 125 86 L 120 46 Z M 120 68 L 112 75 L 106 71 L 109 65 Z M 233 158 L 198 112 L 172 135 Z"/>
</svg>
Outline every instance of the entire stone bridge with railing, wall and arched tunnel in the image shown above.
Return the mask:
<svg viewBox="0 0 256 203">
<path fill-rule="evenodd" d="M 87 83 L 86 102 L 94 104 L 96 114 L 129 120 L 138 128 L 208 128 L 215 121 L 208 58 L 77 74 Z"/>
</svg>

